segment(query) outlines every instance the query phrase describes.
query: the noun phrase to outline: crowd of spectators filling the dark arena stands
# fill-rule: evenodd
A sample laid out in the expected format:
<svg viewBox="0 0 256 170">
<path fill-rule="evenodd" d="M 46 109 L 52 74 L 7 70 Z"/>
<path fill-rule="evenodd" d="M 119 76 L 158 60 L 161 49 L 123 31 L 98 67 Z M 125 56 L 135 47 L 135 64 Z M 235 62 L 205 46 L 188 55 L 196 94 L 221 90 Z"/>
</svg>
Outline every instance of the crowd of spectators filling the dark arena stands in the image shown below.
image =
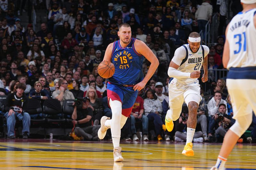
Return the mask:
<svg viewBox="0 0 256 170">
<path fill-rule="evenodd" d="M 208 21 L 212 22 L 214 13 L 222 18 L 220 27 L 225 27 L 223 16 L 226 13 L 221 11 L 223 3 L 215 0 L 46 0 L 42 6 L 47 11 L 47 22 L 41 23 L 40 30 L 36 31 L 32 24 L 26 27 L 22 25 L 19 16 L 24 14 L 26 1 L 23 0 L 22 4 L 18 2 L 0 1 L 1 95 L 10 97 L 14 94 L 15 100 L 35 98 L 40 100 L 42 106 L 50 98 L 59 100 L 62 106 L 65 100 L 88 97 L 89 103 L 84 107 L 87 111 L 90 108 L 88 114 L 92 125 L 98 126 L 103 115 L 111 117 L 111 109 L 106 97 L 106 81 L 98 75 L 97 67 L 107 45 L 118 40 L 119 25 L 126 22 L 131 25 L 132 38 L 144 41 L 159 59 L 160 65 L 148 85 L 140 91 L 131 118 L 122 130 L 122 137 L 125 140 L 186 140 L 188 111 L 185 107 L 180 119 L 175 122 L 173 132 L 167 132 L 164 125 L 169 107 L 168 66 L 174 51 L 187 42 L 189 33 L 202 30 L 204 34 L 205 25 Z M 219 30 L 222 29 L 220 27 Z M 225 37 L 222 33 L 219 35 L 216 43 L 206 44 L 210 48 L 209 79 L 201 88 L 203 100 L 198 109 L 199 128 L 194 142 L 208 141 L 213 137 L 221 141 L 221 137 L 234 123 L 225 75 L 221 77 L 214 71 L 223 69 Z M 144 74 L 148 67 L 149 62 L 145 60 Z M 220 79 L 215 81 L 217 78 Z M 22 90 L 24 95 L 20 94 Z M 10 104 L 2 110 L 7 117 L 7 135 L 10 138 L 15 138 L 15 119 L 9 118 L 10 115 L 24 120 L 22 134 L 24 138 L 29 136 L 27 127 L 30 124 L 25 112 L 27 106 L 19 106 L 25 118 L 18 116 L 20 111 L 10 109 Z M 220 113 L 224 114 L 223 119 L 218 119 Z M 86 115 L 75 116 L 76 119 L 79 117 L 86 119 Z M 81 128 L 85 124 L 92 126 L 88 122 L 79 123 L 79 120 L 74 123 Z M 253 126 L 250 128 L 253 129 Z M 141 137 L 138 137 L 138 129 Z M 83 134 L 81 129 L 76 131 Z M 106 138 L 110 137 L 108 134 Z"/>
</svg>

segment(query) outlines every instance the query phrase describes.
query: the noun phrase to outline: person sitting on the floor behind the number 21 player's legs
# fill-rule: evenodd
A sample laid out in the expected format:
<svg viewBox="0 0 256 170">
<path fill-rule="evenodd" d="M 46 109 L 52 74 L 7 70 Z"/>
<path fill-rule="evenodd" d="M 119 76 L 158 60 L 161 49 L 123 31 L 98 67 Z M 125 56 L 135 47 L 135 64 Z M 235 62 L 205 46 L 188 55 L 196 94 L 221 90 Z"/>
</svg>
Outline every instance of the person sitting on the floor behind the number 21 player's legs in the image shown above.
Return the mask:
<svg viewBox="0 0 256 170">
<path fill-rule="evenodd" d="M 184 142 L 186 141 L 186 137 L 187 137 L 187 121 L 188 121 L 188 115 L 185 113 L 181 113 L 180 114 L 180 118 L 179 120 L 177 120 L 175 122 L 175 141 L 176 142 Z M 193 137 L 193 142 L 203 142 L 203 133 L 202 131 L 197 131 L 194 134 Z"/>
</svg>

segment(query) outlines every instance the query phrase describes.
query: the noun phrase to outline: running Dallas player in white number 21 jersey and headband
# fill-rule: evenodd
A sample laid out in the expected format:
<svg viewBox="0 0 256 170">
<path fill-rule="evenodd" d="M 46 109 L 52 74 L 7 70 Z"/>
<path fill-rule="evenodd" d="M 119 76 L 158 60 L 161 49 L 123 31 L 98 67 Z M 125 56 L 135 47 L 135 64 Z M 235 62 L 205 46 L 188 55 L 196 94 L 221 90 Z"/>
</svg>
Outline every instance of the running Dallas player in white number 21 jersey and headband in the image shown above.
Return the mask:
<svg viewBox="0 0 256 170">
<path fill-rule="evenodd" d="M 199 33 L 192 32 L 188 37 L 188 44 L 177 48 L 170 62 L 168 75 L 172 77 L 169 82 L 169 107 L 165 116 L 165 126 L 170 132 L 173 129 L 173 121 L 180 118 L 182 104 L 185 101 L 188 106 L 187 142 L 182 152 L 186 156 L 194 156 L 192 140 L 197 124 L 197 108 L 202 97 L 198 78 L 203 66 L 202 81 L 208 80 L 207 55 L 209 48 L 200 45 Z"/>
</svg>

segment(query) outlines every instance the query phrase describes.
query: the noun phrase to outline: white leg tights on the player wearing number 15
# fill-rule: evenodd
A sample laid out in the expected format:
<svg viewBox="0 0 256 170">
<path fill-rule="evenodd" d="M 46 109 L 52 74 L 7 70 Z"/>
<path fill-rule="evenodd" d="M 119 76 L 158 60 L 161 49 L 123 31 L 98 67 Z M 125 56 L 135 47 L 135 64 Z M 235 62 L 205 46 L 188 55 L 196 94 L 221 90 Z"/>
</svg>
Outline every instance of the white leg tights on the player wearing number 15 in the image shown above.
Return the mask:
<svg viewBox="0 0 256 170">
<path fill-rule="evenodd" d="M 111 128 L 111 135 L 114 148 L 119 146 L 121 129 L 123 128 L 127 117 L 122 115 L 122 103 L 118 100 L 109 99 L 109 106 L 112 111 L 112 119 L 105 122 L 105 126 Z"/>
</svg>

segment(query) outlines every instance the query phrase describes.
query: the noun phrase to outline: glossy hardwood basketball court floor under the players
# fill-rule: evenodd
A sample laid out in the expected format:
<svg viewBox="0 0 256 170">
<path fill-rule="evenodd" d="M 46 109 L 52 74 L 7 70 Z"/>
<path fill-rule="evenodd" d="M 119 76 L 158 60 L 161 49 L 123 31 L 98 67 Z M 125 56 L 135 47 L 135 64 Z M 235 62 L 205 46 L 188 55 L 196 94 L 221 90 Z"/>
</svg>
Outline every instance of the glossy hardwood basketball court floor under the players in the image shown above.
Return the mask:
<svg viewBox="0 0 256 170">
<path fill-rule="evenodd" d="M 121 142 L 122 163 L 113 162 L 112 141 L 73 142 L 41 139 L 0 139 L 1 170 L 204 170 L 215 164 L 220 144 L 194 144 L 194 157 L 181 154 L 184 143 Z M 255 169 L 256 145 L 237 144 L 227 170 Z"/>
</svg>

